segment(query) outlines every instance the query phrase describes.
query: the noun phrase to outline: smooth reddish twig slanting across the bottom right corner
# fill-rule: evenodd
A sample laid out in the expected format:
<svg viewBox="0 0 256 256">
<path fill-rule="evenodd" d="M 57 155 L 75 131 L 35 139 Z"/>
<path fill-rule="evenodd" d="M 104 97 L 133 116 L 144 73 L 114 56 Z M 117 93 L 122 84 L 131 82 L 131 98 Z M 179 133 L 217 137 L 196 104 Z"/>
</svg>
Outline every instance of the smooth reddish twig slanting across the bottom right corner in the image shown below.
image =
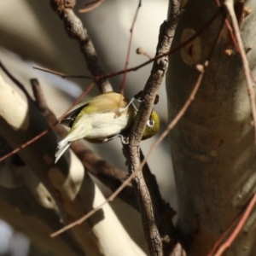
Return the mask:
<svg viewBox="0 0 256 256">
<path fill-rule="evenodd" d="M 233 231 L 233 233 L 231 234 L 229 239 L 227 241 L 225 241 L 224 244 L 221 247 L 219 247 L 218 252 L 215 253 L 214 256 L 220 256 L 222 253 L 224 253 L 225 249 L 230 247 L 230 245 L 236 239 L 236 236 L 239 234 L 239 232 L 241 231 L 242 227 L 246 223 L 247 218 L 249 217 L 250 213 L 253 210 L 253 207 L 255 206 L 255 203 L 256 203 L 256 194 L 253 195 L 253 198 L 249 202 L 245 212 L 242 215 L 242 218 L 240 219 L 239 223 L 236 226 L 236 229 Z"/>
</svg>

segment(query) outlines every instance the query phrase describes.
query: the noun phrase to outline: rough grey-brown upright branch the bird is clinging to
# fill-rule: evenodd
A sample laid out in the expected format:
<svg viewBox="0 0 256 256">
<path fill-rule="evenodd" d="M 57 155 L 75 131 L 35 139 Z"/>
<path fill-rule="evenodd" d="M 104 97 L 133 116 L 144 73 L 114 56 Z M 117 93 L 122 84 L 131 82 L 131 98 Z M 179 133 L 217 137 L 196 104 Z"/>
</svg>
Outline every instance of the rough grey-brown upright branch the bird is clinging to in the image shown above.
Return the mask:
<svg viewBox="0 0 256 256">
<path fill-rule="evenodd" d="M 170 11 L 170 20 L 165 21 L 160 26 L 159 44 L 157 46 L 156 55 L 167 53 L 170 50 L 172 38 L 177 27 L 177 20 L 180 15 L 178 1 L 172 1 Z M 139 143 L 154 106 L 154 99 L 157 94 L 157 90 L 164 78 L 167 67 L 167 56 L 163 56 L 154 61 L 151 74 L 143 90 L 143 102 L 140 105 L 137 113 L 137 119 L 131 129 L 130 144 L 125 147 L 125 151 L 128 153 L 129 172 L 137 172 L 137 175 L 133 179 L 133 187 L 136 190 L 139 201 L 143 218 L 143 229 L 148 241 L 150 255 L 163 255 L 163 250 L 160 234 L 154 220 L 151 198 L 143 178 L 143 172 L 140 172 Z"/>
</svg>

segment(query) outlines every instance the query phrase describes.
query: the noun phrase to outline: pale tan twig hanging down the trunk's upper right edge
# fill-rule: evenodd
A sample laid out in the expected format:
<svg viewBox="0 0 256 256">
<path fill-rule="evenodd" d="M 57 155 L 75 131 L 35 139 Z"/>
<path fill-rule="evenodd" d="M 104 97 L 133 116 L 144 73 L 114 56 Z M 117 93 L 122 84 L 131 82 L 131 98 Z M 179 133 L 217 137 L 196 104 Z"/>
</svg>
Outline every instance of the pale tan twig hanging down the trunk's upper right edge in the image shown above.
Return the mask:
<svg viewBox="0 0 256 256">
<path fill-rule="evenodd" d="M 244 69 L 244 73 L 245 73 L 245 77 L 246 77 L 246 81 L 247 81 L 247 90 L 248 90 L 248 95 L 250 97 L 250 102 L 251 102 L 251 108 L 252 108 L 252 113 L 253 113 L 253 123 L 254 123 L 254 140 L 255 140 L 255 144 L 256 144 L 256 103 L 255 103 L 255 92 L 253 89 L 253 84 L 252 84 L 252 80 L 250 78 L 250 68 L 249 68 L 249 63 L 247 60 L 247 55 L 246 52 L 243 48 L 243 44 L 241 41 L 241 34 L 240 34 L 240 30 L 239 30 L 239 26 L 236 20 L 236 14 L 234 11 L 234 6 L 233 6 L 233 1 L 231 0 L 225 0 L 224 5 L 226 6 L 226 8 L 229 11 L 230 14 L 230 18 L 232 20 L 232 25 L 235 31 L 235 35 L 236 35 L 236 41 L 239 47 L 239 51 L 240 51 L 240 55 L 241 55 L 241 61 L 242 61 L 242 67 Z"/>
</svg>

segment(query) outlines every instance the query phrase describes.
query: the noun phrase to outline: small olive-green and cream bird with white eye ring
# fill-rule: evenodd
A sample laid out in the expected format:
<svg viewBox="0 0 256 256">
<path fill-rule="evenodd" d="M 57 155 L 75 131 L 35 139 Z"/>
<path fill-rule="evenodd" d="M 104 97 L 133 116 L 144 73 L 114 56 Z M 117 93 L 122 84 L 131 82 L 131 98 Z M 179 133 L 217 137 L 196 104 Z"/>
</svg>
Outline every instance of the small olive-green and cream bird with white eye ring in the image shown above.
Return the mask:
<svg viewBox="0 0 256 256">
<path fill-rule="evenodd" d="M 67 137 L 58 143 L 55 163 L 73 141 L 84 139 L 90 143 L 107 143 L 115 137 L 124 138 L 122 131 L 129 129 L 136 117 L 137 108 L 125 96 L 106 92 L 76 105 L 61 120 L 70 127 Z M 160 119 L 154 111 L 148 119 L 142 139 L 154 136 L 160 128 Z"/>
</svg>

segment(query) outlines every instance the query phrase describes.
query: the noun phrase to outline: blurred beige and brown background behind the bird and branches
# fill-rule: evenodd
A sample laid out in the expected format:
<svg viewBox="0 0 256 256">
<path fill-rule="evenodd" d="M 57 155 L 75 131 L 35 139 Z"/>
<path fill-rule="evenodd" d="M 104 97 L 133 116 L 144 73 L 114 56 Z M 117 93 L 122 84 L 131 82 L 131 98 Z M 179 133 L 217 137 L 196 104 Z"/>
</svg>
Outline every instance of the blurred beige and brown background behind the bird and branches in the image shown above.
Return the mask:
<svg viewBox="0 0 256 256">
<path fill-rule="evenodd" d="M 77 1 L 75 7 L 77 15 L 79 15 L 78 9 L 83 9 L 83 4 L 84 1 Z M 125 67 L 129 31 L 137 5 L 137 0 L 107 0 L 98 9 L 79 15 L 95 45 L 105 73 L 113 73 Z M 167 8 L 167 0 L 142 1 L 142 7 L 134 27 L 129 67 L 148 61 L 146 56 L 136 54 L 138 47 L 141 47 L 148 55 L 154 56 L 159 27 L 163 20 L 166 20 Z M 0 1 L 0 61 L 16 79 L 26 86 L 31 94 L 29 79 L 37 78 L 44 90 L 49 108 L 58 117 L 90 84 L 90 81 L 86 79 L 61 79 L 32 68 L 33 65 L 36 65 L 61 73 L 90 75 L 84 58 L 79 52 L 79 44 L 67 38 L 62 20 L 50 8 L 49 1 Z M 151 67 L 152 64 L 149 64 L 147 67 L 127 74 L 125 96 L 131 97 L 137 94 L 139 90 L 143 90 Z M 110 81 L 113 90 L 119 91 L 122 76 L 114 77 Z M 95 87 L 90 96 L 98 93 L 99 91 Z M 165 130 L 167 125 L 165 83 L 161 84 L 159 95 L 160 102 L 155 106 L 155 110 L 160 114 L 161 132 Z M 148 148 L 160 136 L 160 132 L 154 138 L 142 143 L 144 154 L 147 154 Z M 103 145 L 88 144 L 88 146 L 105 160 L 126 170 L 125 157 L 122 154 L 119 140 Z M 174 209 L 177 209 L 172 161 L 167 138 L 151 155 L 148 164 L 157 177 L 163 198 L 171 202 Z M 96 183 L 98 182 L 96 181 Z M 110 191 L 104 185 L 100 184 L 100 187 L 105 195 L 110 195 Z M 132 226 L 137 225 L 136 222 L 140 224 L 139 215 L 131 209 L 127 214 L 125 204 L 117 201 L 111 206 L 117 212 L 125 228 L 132 234 L 131 236 L 140 242 L 143 239 L 142 231 L 138 233 L 132 230 Z M 29 255 L 39 255 L 33 253 L 32 247 L 29 238 L 14 230 L 4 221 L 0 221 L 0 255 L 21 256 L 28 255 L 28 253 Z"/>
</svg>

